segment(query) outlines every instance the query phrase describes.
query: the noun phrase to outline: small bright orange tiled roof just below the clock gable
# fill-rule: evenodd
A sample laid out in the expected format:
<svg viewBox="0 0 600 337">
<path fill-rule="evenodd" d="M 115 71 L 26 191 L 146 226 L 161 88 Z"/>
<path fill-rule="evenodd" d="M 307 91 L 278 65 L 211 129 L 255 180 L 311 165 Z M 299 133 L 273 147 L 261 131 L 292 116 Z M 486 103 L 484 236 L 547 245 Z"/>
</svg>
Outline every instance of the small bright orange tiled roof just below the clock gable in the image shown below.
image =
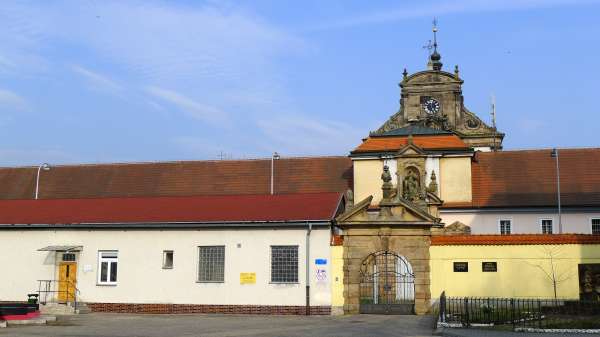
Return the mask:
<svg viewBox="0 0 600 337">
<path fill-rule="evenodd" d="M 454 134 L 435 136 L 417 135 L 413 136 L 413 143 L 425 150 L 463 150 L 469 148 L 465 142 Z M 407 136 L 369 137 L 354 149 L 352 153 L 398 151 L 407 144 Z"/>
</svg>

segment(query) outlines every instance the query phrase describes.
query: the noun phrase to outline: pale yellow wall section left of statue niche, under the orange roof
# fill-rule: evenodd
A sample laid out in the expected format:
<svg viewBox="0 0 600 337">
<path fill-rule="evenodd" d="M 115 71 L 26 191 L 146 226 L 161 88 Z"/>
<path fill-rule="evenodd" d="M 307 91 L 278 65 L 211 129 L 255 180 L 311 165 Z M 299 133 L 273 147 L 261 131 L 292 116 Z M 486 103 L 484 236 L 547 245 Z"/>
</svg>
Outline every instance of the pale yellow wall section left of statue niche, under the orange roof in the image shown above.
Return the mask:
<svg viewBox="0 0 600 337">
<path fill-rule="evenodd" d="M 383 162 L 379 159 L 355 160 L 354 164 L 354 202 L 358 203 L 370 195 L 373 204 L 381 201 L 381 173 Z"/>
</svg>

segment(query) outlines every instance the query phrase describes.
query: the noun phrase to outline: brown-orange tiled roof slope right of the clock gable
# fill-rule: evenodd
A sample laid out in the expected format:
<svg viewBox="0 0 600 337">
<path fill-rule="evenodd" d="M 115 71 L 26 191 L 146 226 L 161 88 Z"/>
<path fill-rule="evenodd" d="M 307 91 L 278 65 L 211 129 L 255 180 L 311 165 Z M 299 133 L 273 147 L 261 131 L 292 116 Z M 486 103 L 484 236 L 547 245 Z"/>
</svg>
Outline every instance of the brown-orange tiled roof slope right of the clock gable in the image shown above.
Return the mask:
<svg viewBox="0 0 600 337">
<path fill-rule="evenodd" d="M 550 154 L 478 152 L 471 166 L 471 207 L 555 207 L 556 162 Z M 600 148 L 560 149 L 559 163 L 562 205 L 600 206 Z"/>
</svg>

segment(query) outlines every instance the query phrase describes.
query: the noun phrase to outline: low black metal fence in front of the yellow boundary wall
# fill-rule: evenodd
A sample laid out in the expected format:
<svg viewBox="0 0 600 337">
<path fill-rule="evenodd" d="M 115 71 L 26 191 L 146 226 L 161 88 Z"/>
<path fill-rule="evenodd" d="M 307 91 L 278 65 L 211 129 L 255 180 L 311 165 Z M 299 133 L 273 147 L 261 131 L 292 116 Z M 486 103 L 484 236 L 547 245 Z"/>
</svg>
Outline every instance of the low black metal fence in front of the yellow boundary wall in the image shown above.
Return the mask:
<svg viewBox="0 0 600 337">
<path fill-rule="evenodd" d="M 439 300 L 439 322 L 515 328 L 600 328 L 600 302 L 565 299 L 446 297 Z"/>
</svg>

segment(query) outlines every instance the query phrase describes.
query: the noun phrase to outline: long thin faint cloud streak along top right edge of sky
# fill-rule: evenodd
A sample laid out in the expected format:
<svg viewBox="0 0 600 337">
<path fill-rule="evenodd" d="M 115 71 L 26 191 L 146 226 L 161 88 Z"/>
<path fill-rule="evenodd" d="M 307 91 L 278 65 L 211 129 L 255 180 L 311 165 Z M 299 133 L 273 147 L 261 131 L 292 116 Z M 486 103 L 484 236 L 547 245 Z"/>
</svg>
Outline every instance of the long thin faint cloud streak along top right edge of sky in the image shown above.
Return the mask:
<svg viewBox="0 0 600 337">
<path fill-rule="evenodd" d="M 598 3 L 598 0 L 445 0 L 399 2 L 403 5 L 370 13 L 329 20 L 308 30 L 340 29 L 365 24 L 381 24 L 412 18 L 432 18 L 436 15 L 529 10 L 557 6 L 576 6 Z"/>
</svg>

